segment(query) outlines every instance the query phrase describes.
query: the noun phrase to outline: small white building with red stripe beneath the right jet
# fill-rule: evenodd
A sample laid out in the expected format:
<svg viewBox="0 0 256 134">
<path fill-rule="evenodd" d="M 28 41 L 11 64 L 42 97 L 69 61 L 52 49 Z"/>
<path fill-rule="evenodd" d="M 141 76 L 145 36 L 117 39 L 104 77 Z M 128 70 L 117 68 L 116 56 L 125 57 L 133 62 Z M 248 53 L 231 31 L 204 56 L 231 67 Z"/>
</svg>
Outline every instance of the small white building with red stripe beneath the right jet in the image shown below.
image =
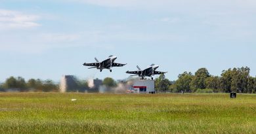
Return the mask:
<svg viewBox="0 0 256 134">
<path fill-rule="evenodd" d="M 134 93 L 156 93 L 155 80 L 135 80 L 131 90 Z"/>
</svg>

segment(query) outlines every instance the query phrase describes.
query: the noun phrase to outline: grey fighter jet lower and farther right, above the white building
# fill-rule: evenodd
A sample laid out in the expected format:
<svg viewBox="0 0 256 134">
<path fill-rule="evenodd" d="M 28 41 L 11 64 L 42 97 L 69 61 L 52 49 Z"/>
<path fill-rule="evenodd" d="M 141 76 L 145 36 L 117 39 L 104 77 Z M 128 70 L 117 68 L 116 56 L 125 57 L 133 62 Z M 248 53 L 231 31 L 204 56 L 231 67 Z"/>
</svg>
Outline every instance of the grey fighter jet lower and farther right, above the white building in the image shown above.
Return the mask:
<svg viewBox="0 0 256 134">
<path fill-rule="evenodd" d="M 158 69 L 158 67 L 159 67 L 159 65 L 152 64 L 152 65 L 150 65 L 150 67 L 148 67 L 144 70 L 141 70 L 140 67 L 137 65 L 137 68 L 139 69 L 139 71 L 127 71 L 126 73 L 136 74 L 136 75 L 132 75 L 132 76 L 139 75 L 142 77 L 142 80 L 144 80 L 144 77 L 150 76 L 151 79 L 153 80 L 154 75 L 161 75 L 161 74 L 167 73 L 167 72 L 156 71 L 156 69 Z"/>
</svg>

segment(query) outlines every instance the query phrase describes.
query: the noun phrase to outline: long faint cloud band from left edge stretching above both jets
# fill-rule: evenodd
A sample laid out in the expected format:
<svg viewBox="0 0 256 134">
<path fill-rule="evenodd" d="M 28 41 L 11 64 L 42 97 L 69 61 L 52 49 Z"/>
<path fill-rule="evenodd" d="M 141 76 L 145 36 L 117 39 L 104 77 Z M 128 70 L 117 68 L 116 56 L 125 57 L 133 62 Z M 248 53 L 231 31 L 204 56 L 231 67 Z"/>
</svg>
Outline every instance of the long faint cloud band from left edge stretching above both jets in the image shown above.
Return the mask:
<svg viewBox="0 0 256 134">
<path fill-rule="evenodd" d="M 0 51 L 33 54 L 54 48 L 89 47 L 106 50 L 114 49 L 120 43 L 137 46 L 137 43 L 142 42 L 172 42 L 182 41 L 182 39 L 171 34 L 127 31 L 86 31 L 77 33 L 41 33 L 37 31 L 24 33 L 23 31 L 17 31 L 11 32 L 11 34 L 0 32 L 0 41 Z"/>
</svg>

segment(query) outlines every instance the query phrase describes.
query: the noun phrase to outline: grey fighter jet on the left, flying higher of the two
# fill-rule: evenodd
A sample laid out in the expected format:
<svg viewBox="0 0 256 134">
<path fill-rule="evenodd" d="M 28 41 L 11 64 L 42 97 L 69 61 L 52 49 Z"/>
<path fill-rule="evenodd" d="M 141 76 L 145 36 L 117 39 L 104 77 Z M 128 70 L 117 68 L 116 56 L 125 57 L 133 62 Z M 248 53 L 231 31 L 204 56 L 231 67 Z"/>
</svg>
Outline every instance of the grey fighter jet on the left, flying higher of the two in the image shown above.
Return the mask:
<svg viewBox="0 0 256 134">
<path fill-rule="evenodd" d="M 102 72 L 103 69 L 109 69 L 112 72 L 112 67 L 123 67 L 126 64 L 114 63 L 117 59 L 116 56 L 109 56 L 108 59 L 105 59 L 102 62 L 99 62 L 97 58 L 95 58 L 96 63 L 83 63 L 85 66 L 90 66 L 88 69 L 100 69 Z"/>
</svg>

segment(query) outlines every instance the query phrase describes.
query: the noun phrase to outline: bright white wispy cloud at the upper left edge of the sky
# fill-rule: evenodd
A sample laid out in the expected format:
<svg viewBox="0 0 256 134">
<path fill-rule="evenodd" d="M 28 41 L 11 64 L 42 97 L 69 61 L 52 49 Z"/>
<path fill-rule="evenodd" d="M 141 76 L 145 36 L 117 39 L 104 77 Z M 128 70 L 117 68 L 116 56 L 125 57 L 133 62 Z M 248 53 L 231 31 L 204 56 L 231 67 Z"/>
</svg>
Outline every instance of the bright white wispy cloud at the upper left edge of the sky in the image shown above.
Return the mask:
<svg viewBox="0 0 256 134">
<path fill-rule="evenodd" d="M 24 29 L 38 27 L 40 16 L 24 14 L 15 10 L 0 9 L 0 29 Z"/>
</svg>

